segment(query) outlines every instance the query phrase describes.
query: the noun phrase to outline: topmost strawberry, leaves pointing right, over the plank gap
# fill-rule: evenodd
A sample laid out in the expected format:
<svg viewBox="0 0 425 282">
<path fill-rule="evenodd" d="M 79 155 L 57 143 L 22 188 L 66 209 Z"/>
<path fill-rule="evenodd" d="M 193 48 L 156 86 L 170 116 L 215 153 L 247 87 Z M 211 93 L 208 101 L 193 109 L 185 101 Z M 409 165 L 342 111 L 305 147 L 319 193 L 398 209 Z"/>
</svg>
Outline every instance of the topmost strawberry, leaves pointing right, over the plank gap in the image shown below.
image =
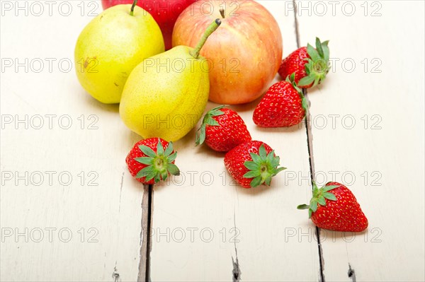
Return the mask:
<svg viewBox="0 0 425 282">
<path fill-rule="evenodd" d="M 295 83 L 300 88 L 317 86 L 329 71 L 329 41 L 320 42 L 316 37 L 316 49 L 312 45 L 301 47 L 283 59 L 279 74 L 283 79 L 295 73 Z"/>
</svg>

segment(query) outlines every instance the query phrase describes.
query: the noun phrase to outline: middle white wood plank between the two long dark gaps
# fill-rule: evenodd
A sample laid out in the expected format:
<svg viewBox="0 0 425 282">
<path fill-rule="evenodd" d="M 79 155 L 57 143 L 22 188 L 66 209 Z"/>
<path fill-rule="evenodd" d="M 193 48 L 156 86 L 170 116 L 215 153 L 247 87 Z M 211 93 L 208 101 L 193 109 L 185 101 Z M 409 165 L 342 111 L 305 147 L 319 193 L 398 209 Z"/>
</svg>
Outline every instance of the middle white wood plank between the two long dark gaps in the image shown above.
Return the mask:
<svg viewBox="0 0 425 282">
<path fill-rule="evenodd" d="M 285 1 L 261 4 L 278 20 L 284 54 L 289 54 L 296 48 L 293 12 L 285 16 Z M 176 164 L 186 180 L 176 177 L 169 184 L 154 187 L 152 281 L 232 281 L 235 247 L 242 281 L 318 280 L 317 243 L 312 233 L 307 235 L 310 242 L 299 242 L 298 230 L 305 215 L 295 209 L 311 189 L 305 128 L 257 128 L 252 121 L 256 103 L 232 108 L 241 114 L 254 139 L 275 148 L 289 175 L 306 176 L 305 185 L 285 183 L 288 172 L 282 172 L 269 188 L 233 186 L 223 163 L 224 154 L 196 148 L 192 131 L 175 143 L 179 151 Z M 209 103 L 208 110 L 214 106 Z M 237 242 L 232 242 L 235 227 L 239 234 Z M 191 228 L 198 228 L 193 230 L 193 240 Z M 206 242 L 209 233 L 203 228 L 210 228 L 214 235 L 211 242 Z M 200 237 L 202 230 L 204 237 Z M 186 236 L 183 240 L 182 234 Z"/>
</svg>

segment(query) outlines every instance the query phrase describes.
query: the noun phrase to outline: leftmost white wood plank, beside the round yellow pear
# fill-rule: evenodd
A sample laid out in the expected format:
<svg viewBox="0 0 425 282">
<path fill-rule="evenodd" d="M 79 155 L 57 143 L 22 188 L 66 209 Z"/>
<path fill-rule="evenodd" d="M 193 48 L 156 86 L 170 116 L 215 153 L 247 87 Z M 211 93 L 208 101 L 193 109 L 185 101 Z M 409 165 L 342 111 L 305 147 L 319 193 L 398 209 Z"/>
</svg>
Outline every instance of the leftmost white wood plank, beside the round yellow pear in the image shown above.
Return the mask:
<svg viewBox="0 0 425 282">
<path fill-rule="evenodd" d="M 87 15 L 94 4 L 101 11 L 100 1 L 65 2 L 72 5 L 69 16 L 58 12 L 60 3 L 53 6 L 52 16 L 45 2 L 39 2 L 45 9 L 39 17 L 31 10 L 28 16 L 25 10 L 15 15 L 15 5 L 29 9 L 30 1 L 10 1 L 13 9 L 2 10 L 1 58 L 28 58 L 29 66 L 27 72 L 23 66 L 1 71 L 0 279 L 135 281 L 143 188 L 132 181 L 125 156 L 138 137 L 120 121 L 118 106 L 96 102 L 79 86 L 74 67 L 66 72 L 58 66 L 60 59 L 62 69 L 74 61 L 77 36 L 91 20 Z M 30 64 L 37 58 L 45 64 L 40 73 L 35 72 L 38 64 Z M 46 58 L 55 59 L 52 71 Z M 51 125 L 47 114 L 56 115 Z M 25 118 L 27 128 L 16 122 Z M 44 124 L 37 129 L 40 120 Z M 63 129 L 68 120 L 71 127 Z M 52 173 L 51 184 L 46 171 Z M 8 180 L 10 173 L 28 177 Z M 72 176 L 69 184 L 67 175 Z"/>
</svg>

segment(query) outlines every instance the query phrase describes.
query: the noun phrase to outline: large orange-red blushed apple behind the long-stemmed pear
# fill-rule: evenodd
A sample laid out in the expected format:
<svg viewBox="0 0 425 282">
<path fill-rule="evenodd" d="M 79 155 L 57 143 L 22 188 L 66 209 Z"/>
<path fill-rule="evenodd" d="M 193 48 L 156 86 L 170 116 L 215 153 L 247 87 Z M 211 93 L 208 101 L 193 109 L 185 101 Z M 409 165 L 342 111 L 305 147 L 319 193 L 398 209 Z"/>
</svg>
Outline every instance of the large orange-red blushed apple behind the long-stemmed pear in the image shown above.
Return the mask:
<svg viewBox="0 0 425 282">
<path fill-rule="evenodd" d="M 210 69 L 209 99 L 227 105 L 251 102 L 267 90 L 282 61 L 278 23 L 252 0 L 201 0 L 177 19 L 173 46 L 195 47 L 215 18 L 222 18 L 222 25 L 200 52 Z"/>
</svg>

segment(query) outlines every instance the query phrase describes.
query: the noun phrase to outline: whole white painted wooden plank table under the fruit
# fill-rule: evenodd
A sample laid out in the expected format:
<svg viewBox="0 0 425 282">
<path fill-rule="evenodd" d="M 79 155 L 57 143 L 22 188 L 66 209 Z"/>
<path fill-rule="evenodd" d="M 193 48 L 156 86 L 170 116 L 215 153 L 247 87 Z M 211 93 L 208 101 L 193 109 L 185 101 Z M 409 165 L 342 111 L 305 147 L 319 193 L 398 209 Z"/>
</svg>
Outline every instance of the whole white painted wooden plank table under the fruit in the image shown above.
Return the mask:
<svg viewBox="0 0 425 282">
<path fill-rule="evenodd" d="M 232 107 L 288 167 L 256 189 L 194 131 L 175 143 L 180 177 L 132 180 L 140 137 L 69 65 L 100 1 L 0 4 L 1 281 L 425 280 L 424 1 L 261 1 L 284 56 L 319 36 L 333 62 L 308 91 L 308 129 L 259 129 L 256 102 Z M 295 208 L 310 172 L 346 184 L 368 230 L 319 230 L 318 244 Z"/>
</svg>

